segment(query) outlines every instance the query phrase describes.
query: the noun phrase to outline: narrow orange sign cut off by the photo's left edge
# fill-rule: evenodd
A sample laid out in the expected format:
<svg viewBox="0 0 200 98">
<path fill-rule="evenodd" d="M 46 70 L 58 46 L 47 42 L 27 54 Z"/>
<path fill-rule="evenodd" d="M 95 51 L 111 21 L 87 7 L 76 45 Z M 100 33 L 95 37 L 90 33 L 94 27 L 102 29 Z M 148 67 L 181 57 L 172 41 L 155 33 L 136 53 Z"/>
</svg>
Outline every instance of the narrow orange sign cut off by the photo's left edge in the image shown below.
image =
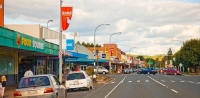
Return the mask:
<svg viewBox="0 0 200 98">
<path fill-rule="evenodd" d="M 4 26 L 4 0 L 0 0 L 0 27 Z"/>
</svg>

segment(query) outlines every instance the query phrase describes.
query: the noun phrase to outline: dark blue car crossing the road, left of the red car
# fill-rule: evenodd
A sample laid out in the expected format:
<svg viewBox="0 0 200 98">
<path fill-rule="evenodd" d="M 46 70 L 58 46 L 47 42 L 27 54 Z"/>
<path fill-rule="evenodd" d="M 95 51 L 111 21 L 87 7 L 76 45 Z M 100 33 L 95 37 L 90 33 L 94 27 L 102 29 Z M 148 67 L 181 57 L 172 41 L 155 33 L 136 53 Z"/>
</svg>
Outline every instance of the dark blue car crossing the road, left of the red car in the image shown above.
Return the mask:
<svg viewBox="0 0 200 98">
<path fill-rule="evenodd" d="M 155 75 L 157 73 L 157 70 L 153 67 L 151 68 L 142 68 L 138 71 L 138 74 L 153 74 Z"/>
</svg>

